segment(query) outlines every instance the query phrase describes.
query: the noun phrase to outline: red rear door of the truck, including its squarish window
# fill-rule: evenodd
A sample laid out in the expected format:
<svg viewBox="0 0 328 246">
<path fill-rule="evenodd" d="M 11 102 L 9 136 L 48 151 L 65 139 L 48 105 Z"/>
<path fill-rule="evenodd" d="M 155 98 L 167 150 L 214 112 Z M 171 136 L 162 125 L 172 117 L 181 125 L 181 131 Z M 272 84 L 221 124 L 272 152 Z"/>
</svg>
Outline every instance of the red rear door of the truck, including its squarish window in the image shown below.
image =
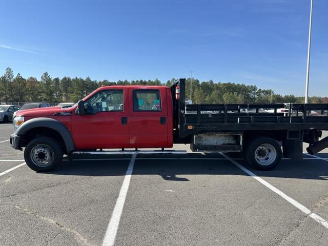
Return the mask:
<svg viewBox="0 0 328 246">
<path fill-rule="evenodd" d="M 129 88 L 129 100 L 132 106 L 128 119 L 131 147 L 168 147 L 168 113 L 165 88 Z"/>
</svg>

